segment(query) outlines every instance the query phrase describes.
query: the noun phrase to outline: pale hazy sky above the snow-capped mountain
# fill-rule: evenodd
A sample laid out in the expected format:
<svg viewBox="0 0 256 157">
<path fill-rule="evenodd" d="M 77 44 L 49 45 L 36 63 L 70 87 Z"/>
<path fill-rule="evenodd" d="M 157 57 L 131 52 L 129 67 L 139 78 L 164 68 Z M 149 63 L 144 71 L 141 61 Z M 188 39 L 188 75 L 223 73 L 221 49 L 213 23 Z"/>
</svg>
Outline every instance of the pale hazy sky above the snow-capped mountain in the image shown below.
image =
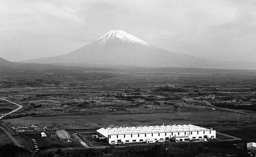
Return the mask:
<svg viewBox="0 0 256 157">
<path fill-rule="evenodd" d="M 69 53 L 122 29 L 176 53 L 256 61 L 256 0 L 0 0 L 0 57 Z"/>
</svg>

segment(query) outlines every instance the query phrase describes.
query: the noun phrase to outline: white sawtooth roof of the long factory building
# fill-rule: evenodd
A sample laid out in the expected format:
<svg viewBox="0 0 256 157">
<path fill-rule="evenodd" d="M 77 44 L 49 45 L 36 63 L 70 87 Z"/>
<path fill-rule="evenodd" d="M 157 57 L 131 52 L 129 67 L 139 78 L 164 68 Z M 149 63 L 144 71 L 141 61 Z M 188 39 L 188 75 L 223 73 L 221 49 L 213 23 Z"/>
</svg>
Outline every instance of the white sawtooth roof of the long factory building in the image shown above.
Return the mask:
<svg viewBox="0 0 256 157">
<path fill-rule="evenodd" d="M 162 132 L 192 132 L 192 131 L 207 131 L 210 129 L 202 128 L 195 125 L 167 125 L 167 126 L 137 126 L 137 127 L 114 127 L 101 128 L 96 130 L 105 137 L 108 135 L 122 135 L 122 134 L 145 134 L 145 133 L 162 133 Z"/>
</svg>

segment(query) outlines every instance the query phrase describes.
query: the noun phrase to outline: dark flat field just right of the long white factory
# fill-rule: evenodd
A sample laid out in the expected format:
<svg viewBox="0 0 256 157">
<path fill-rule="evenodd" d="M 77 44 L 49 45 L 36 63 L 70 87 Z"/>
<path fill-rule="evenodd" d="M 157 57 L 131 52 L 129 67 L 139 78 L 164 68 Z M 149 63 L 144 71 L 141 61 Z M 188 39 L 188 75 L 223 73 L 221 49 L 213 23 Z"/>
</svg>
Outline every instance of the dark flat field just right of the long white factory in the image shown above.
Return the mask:
<svg viewBox="0 0 256 157">
<path fill-rule="evenodd" d="M 214 128 L 217 132 L 240 137 L 242 139 L 256 138 L 256 126 L 237 126 Z"/>
</svg>

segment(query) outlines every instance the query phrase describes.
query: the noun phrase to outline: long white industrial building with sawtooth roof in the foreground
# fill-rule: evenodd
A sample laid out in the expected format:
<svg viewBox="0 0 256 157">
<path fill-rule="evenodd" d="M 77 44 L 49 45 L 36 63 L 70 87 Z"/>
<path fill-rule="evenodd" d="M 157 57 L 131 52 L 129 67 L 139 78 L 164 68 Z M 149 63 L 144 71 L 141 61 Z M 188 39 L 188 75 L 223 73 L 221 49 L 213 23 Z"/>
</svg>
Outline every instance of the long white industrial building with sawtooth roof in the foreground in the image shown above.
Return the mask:
<svg viewBox="0 0 256 157">
<path fill-rule="evenodd" d="M 195 125 L 114 127 L 96 130 L 108 143 L 146 142 L 146 140 L 175 140 L 186 142 L 192 139 L 215 138 L 216 131 Z"/>
</svg>

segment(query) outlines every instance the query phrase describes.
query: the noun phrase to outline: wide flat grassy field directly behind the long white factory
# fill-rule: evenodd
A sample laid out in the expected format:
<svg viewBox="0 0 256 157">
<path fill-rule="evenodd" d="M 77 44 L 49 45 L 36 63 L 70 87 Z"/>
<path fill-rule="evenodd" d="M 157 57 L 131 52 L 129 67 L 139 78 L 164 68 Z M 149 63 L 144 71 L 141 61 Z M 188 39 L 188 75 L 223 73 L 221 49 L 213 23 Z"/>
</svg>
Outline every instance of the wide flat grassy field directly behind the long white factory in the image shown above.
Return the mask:
<svg viewBox="0 0 256 157">
<path fill-rule="evenodd" d="M 146 126 L 168 124 L 197 124 L 206 126 L 237 123 L 238 114 L 234 112 L 187 112 L 187 113 L 148 113 L 125 115 L 40 115 L 3 120 L 9 126 L 28 126 L 36 124 L 38 127 L 51 129 L 81 129 L 116 126 Z M 239 115 L 240 121 L 248 121 L 248 115 Z M 254 118 L 251 121 L 255 121 Z"/>
</svg>

